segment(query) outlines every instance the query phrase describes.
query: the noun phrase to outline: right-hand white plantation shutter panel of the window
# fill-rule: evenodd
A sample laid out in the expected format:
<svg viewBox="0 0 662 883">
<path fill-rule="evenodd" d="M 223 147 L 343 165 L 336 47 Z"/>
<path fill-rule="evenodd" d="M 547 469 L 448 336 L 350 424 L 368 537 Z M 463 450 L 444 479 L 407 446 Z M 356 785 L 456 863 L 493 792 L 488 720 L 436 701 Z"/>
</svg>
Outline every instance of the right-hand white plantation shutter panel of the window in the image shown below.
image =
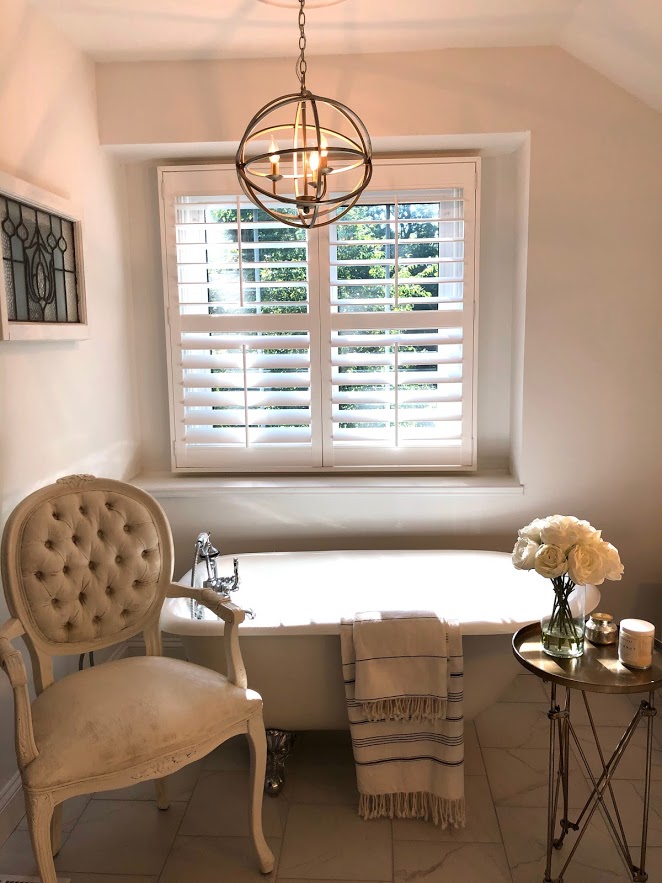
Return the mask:
<svg viewBox="0 0 662 883">
<path fill-rule="evenodd" d="M 467 183 L 371 194 L 328 228 L 327 462 L 472 465 Z"/>
</svg>

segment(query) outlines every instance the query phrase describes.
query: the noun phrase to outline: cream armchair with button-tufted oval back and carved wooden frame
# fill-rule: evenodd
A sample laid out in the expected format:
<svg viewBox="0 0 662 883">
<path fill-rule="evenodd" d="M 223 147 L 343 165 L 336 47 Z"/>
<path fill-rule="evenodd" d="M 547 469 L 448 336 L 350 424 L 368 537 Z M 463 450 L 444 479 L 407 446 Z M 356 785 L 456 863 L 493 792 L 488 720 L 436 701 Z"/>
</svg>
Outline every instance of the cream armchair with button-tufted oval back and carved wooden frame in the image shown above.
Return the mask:
<svg viewBox="0 0 662 883">
<path fill-rule="evenodd" d="M 123 482 L 62 478 L 19 503 L 6 524 L 2 579 L 12 618 L 0 625 L 0 663 L 14 691 L 16 755 L 43 883 L 56 883 L 64 800 L 154 779 L 165 810 L 168 774 L 239 733 L 251 752 L 251 837 L 262 872 L 273 868 L 261 817 L 262 700 L 247 689 L 239 652 L 244 613 L 210 589 L 173 585 L 172 570 L 163 510 Z M 161 655 L 166 596 L 195 598 L 224 620 L 227 677 Z M 54 681 L 54 656 L 101 650 L 140 631 L 146 656 Z M 11 644 L 19 637 L 32 659 L 32 703 Z"/>
</svg>

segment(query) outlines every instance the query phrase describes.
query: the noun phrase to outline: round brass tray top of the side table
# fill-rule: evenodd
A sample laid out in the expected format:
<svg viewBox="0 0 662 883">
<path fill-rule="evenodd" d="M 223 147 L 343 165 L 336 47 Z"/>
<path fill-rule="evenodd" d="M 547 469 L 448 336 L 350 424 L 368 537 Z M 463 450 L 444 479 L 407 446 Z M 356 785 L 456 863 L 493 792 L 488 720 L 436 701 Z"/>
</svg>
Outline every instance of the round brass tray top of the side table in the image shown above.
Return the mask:
<svg viewBox="0 0 662 883">
<path fill-rule="evenodd" d="M 662 687 L 662 643 L 655 641 L 653 666 L 643 671 L 626 668 L 618 660 L 618 644 L 597 646 L 584 642 L 577 659 L 548 656 L 540 642 L 540 625 L 525 625 L 513 635 L 515 658 L 545 681 L 591 693 L 648 693 Z"/>
</svg>

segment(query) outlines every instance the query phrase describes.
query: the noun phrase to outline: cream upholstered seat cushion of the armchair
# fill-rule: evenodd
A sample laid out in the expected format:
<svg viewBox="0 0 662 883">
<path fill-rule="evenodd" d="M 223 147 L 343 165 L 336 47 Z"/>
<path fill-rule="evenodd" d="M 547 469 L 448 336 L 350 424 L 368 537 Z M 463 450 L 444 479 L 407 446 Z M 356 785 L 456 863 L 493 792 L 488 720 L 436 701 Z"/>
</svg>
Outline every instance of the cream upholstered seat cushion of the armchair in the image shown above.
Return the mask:
<svg viewBox="0 0 662 883">
<path fill-rule="evenodd" d="M 221 736 L 261 708 L 253 690 L 179 659 L 137 656 L 87 668 L 32 704 L 39 756 L 23 778 L 43 789 L 130 770 Z"/>
</svg>

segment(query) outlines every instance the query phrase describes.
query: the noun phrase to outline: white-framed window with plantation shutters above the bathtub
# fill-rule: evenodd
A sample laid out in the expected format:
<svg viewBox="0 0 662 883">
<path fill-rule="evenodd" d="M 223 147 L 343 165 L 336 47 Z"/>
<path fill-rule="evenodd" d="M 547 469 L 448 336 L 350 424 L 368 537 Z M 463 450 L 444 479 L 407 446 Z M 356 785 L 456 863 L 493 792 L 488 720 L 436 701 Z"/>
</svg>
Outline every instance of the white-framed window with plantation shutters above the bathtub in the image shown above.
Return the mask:
<svg viewBox="0 0 662 883">
<path fill-rule="evenodd" d="M 478 160 L 384 160 L 300 230 L 159 170 L 173 469 L 475 468 Z"/>
</svg>

